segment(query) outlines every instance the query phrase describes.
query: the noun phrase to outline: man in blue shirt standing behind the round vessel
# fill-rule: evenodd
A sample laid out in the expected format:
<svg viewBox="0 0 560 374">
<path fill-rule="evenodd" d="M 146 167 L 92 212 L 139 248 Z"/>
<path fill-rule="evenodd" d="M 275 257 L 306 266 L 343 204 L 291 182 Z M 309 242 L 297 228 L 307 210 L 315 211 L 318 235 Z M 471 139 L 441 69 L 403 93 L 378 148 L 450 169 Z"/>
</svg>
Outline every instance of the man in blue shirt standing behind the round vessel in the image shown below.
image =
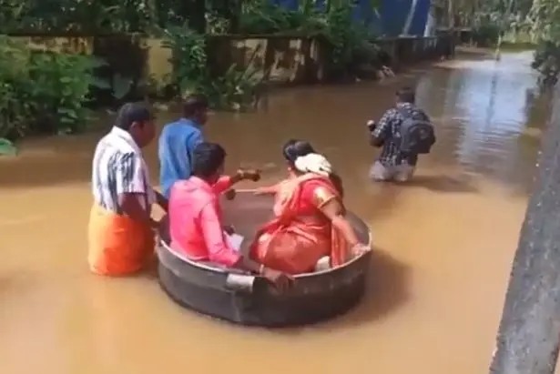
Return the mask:
<svg viewBox="0 0 560 374">
<path fill-rule="evenodd" d="M 201 127 L 208 120 L 209 102 L 205 96 L 188 96 L 183 116 L 163 127 L 159 136 L 159 185 L 165 197 L 178 179 L 190 177 L 192 152 L 204 141 Z"/>
</svg>

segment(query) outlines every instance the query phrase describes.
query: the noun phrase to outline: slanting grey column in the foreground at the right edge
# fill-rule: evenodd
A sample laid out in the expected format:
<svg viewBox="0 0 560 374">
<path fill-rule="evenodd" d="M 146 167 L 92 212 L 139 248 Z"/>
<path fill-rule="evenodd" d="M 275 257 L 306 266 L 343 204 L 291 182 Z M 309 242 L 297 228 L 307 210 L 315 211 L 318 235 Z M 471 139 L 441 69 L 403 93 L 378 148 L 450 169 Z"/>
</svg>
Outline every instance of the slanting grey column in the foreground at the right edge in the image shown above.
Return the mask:
<svg viewBox="0 0 560 374">
<path fill-rule="evenodd" d="M 560 343 L 560 108 L 543 136 L 491 374 L 554 374 Z"/>
</svg>

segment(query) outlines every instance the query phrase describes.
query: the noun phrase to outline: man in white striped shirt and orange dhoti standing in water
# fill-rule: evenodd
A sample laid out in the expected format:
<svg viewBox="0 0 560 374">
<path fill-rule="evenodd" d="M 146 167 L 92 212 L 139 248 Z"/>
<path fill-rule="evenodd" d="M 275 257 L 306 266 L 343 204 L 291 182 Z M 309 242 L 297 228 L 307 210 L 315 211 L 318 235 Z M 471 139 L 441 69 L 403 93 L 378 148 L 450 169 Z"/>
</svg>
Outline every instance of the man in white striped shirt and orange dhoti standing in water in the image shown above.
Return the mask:
<svg viewBox="0 0 560 374">
<path fill-rule="evenodd" d="M 140 150 L 155 136 L 153 119 L 145 104 L 125 104 L 115 126 L 97 144 L 88 230 L 89 267 L 97 274 L 134 273 L 153 257 L 157 223 L 151 206 L 158 203 L 167 210 L 167 199 L 149 183 Z"/>
</svg>

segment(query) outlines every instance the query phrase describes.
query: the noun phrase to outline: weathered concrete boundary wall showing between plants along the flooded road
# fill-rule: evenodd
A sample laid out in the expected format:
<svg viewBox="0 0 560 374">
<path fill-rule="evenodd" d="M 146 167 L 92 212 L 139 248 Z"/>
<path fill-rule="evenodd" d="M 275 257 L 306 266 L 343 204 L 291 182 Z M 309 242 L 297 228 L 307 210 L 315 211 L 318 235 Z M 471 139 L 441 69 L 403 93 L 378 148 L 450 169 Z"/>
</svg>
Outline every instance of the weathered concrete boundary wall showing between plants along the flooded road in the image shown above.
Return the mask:
<svg viewBox="0 0 560 374">
<path fill-rule="evenodd" d="M 172 73 L 170 50 L 158 39 L 136 39 L 126 35 L 115 37 L 20 37 L 36 49 L 101 56 L 109 66 L 99 72 L 111 79 L 118 75 L 136 84 L 150 78 L 152 82 L 166 82 Z M 283 35 L 255 35 L 250 38 L 236 35 L 209 37 L 212 51 L 209 64 L 218 71 L 231 66 L 256 71 L 255 76 L 281 84 L 310 84 L 323 79 L 321 42 L 315 38 Z M 438 58 L 445 54 L 444 37 L 394 37 L 377 42 L 391 57 L 395 67 Z M 447 45 L 449 43 L 447 42 Z"/>
</svg>

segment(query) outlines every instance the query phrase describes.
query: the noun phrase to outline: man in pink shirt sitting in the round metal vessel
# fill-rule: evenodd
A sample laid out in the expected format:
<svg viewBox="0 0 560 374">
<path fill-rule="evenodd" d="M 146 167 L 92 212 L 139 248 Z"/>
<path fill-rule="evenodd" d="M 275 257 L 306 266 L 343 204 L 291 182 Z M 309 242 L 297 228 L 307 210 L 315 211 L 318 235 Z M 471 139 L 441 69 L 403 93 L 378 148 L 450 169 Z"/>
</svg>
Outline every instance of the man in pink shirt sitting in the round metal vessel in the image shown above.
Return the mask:
<svg viewBox="0 0 560 374">
<path fill-rule="evenodd" d="M 218 144 L 201 143 L 195 147 L 192 176 L 175 182 L 169 194 L 171 248 L 194 260 L 253 271 L 274 286 L 287 288 L 290 277 L 244 257 L 225 237 L 219 194 L 242 179 L 260 177 L 258 172 L 242 170 L 233 177 L 222 176 L 225 158 L 226 152 Z"/>
</svg>

